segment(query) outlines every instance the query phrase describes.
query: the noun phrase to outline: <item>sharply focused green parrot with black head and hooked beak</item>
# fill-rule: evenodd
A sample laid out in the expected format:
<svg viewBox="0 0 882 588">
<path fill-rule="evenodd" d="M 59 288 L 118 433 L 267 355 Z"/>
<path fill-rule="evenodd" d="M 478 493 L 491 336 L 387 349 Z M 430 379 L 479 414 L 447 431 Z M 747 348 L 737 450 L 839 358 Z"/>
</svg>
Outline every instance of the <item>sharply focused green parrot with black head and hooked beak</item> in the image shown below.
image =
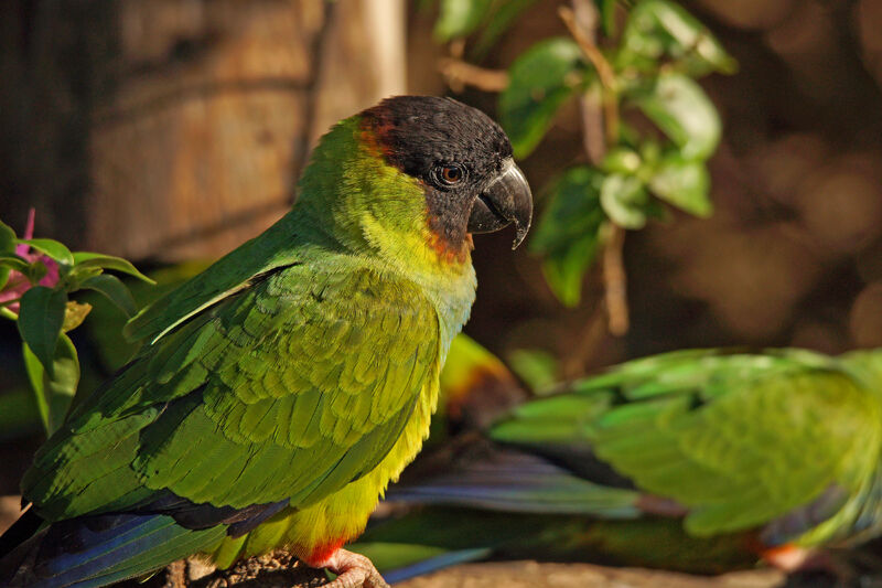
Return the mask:
<svg viewBox="0 0 882 588">
<path fill-rule="evenodd" d="M 516 247 L 531 211 L 508 138 L 474 108 L 400 96 L 338 122 L 290 213 L 126 325 L 142 349 L 24 475 L 0 585 L 283 547 L 334 588 L 384 586 L 342 546 L 429 431 L 475 297 L 471 234 L 514 224 Z"/>
</svg>

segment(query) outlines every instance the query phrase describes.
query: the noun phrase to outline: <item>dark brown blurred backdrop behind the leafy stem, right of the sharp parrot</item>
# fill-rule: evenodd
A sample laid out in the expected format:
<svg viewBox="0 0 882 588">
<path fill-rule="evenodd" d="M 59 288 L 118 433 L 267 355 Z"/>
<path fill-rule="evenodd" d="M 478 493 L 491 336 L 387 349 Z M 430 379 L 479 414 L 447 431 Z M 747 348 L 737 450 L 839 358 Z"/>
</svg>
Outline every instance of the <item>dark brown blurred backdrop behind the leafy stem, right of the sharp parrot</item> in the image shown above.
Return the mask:
<svg viewBox="0 0 882 588">
<path fill-rule="evenodd" d="M 701 79 L 723 128 L 709 160 L 712 216 L 673 211 L 665 223 L 628 232 L 624 338 L 598 318 L 603 264 L 583 282 L 581 303 L 567 310 L 530 257 L 515 260 L 523 289 L 488 292 L 509 268 L 482 265 L 481 250 L 482 290 L 469 331 L 504 355 L 538 346 L 560 361 L 563 375 L 684 346 L 838 352 L 880 344 L 880 11 L 873 4 L 682 2 L 740 64 L 736 75 Z M 530 6 L 480 65 L 510 67 L 536 40 L 566 35 L 556 8 Z M 411 43 L 424 39 L 413 35 Z M 474 87 L 463 96 L 487 109 L 496 104 Z M 524 161 L 537 190 L 567 165 L 587 162 L 581 117 L 578 103 L 562 105 Z M 540 210 L 548 195 L 540 192 Z M 512 316 L 519 319 L 501 338 L 498 325 Z"/>
</svg>

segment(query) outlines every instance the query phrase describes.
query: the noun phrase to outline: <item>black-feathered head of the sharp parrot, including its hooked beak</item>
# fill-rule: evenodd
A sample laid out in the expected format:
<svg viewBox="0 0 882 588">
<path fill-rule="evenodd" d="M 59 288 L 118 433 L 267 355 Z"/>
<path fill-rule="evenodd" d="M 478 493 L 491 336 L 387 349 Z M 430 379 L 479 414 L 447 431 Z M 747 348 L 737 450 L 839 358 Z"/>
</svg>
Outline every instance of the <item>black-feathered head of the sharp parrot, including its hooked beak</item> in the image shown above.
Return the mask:
<svg viewBox="0 0 882 588">
<path fill-rule="evenodd" d="M 487 115 L 452 98 L 396 96 L 362 117 L 386 161 L 422 184 L 430 226 L 448 246 L 509 224 L 520 245 L 533 195 L 508 137 Z"/>
</svg>

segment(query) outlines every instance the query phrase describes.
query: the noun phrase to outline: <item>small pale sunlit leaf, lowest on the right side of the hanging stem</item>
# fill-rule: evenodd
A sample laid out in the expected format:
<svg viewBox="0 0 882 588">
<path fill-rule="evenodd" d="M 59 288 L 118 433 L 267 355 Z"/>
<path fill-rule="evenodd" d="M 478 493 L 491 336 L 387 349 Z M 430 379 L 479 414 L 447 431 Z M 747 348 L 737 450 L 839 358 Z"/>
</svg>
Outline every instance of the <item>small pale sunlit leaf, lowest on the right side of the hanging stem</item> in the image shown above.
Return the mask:
<svg viewBox="0 0 882 588">
<path fill-rule="evenodd" d="M 666 157 L 649 180 L 649 190 L 689 214 L 704 218 L 713 212 L 708 195 L 710 175 L 702 161 L 685 160 L 677 153 Z"/>
</svg>

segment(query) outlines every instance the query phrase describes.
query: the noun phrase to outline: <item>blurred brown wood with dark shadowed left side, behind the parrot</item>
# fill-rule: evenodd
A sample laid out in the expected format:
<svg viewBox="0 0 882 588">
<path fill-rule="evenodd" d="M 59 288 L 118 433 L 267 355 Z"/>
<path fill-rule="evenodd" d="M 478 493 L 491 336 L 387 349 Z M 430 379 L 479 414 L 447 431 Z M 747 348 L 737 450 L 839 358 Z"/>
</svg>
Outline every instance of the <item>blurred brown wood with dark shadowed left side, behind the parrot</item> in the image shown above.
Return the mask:
<svg viewBox="0 0 882 588">
<path fill-rule="evenodd" d="M 405 92 L 404 0 L 26 6 L 0 9 L 0 122 L 26 153 L 0 218 L 34 203 L 78 248 L 217 257 L 290 207 L 330 125 Z"/>
</svg>

